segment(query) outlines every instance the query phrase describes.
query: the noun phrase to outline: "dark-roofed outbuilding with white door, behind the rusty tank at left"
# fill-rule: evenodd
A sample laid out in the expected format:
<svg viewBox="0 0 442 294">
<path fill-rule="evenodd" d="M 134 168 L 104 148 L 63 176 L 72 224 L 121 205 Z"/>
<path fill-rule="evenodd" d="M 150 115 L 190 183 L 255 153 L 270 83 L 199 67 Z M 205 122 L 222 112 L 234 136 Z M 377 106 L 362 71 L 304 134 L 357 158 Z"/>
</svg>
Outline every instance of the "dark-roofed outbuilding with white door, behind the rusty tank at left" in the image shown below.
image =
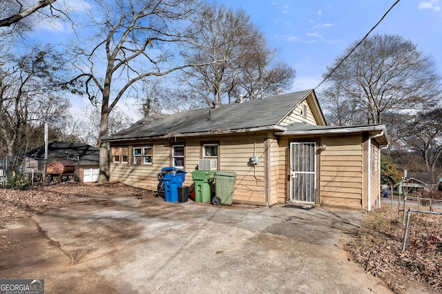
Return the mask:
<svg viewBox="0 0 442 294">
<path fill-rule="evenodd" d="M 40 146 L 26 153 L 26 168 L 44 170 L 45 147 Z M 97 182 L 99 175 L 99 148 L 84 143 L 54 141 L 48 144 L 48 162 L 70 161 L 75 164 L 80 182 Z M 47 162 L 47 163 L 48 163 Z"/>
</svg>

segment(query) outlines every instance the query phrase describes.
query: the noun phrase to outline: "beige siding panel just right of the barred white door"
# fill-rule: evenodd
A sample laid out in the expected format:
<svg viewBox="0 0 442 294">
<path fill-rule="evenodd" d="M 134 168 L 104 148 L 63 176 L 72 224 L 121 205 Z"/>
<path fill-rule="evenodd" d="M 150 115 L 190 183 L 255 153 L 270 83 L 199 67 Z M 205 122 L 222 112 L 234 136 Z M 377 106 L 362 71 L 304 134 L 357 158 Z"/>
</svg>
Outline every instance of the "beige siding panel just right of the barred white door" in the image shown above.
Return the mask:
<svg viewBox="0 0 442 294">
<path fill-rule="evenodd" d="M 320 202 L 324 206 L 361 208 L 363 144 L 361 136 L 325 137 L 320 151 Z"/>
</svg>

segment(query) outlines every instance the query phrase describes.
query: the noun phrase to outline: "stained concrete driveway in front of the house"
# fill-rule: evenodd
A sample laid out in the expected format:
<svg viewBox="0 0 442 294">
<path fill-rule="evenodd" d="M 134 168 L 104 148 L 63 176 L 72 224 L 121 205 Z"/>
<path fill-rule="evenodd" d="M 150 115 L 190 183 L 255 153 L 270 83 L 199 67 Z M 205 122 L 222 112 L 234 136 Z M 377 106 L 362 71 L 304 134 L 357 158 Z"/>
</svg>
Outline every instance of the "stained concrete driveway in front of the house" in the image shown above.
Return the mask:
<svg viewBox="0 0 442 294">
<path fill-rule="evenodd" d="M 349 261 L 363 213 L 92 195 L 5 230 L 3 279 L 45 293 L 391 293 Z M 5 231 L 3 230 L 3 231 Z"/>
</svg>

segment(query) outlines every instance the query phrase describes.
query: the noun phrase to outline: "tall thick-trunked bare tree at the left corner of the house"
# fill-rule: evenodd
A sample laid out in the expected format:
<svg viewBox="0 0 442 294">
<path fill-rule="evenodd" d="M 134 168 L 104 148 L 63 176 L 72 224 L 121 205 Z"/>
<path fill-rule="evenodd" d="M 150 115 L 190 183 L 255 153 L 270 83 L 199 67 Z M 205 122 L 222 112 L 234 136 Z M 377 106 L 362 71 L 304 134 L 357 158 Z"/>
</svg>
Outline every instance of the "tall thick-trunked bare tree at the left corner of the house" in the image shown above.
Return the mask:
<svg viewBox="0 0 442 294">
<path fill-rule="evenodd" d="M 108 118 L 118 101 L 137 92 L 148 77 L 168 75 L 195 64 L 178 59 L 176 44 L 189 42 L 185 28 L 198 8 L 190 0 L 97 0 L 88 15 L 96 34 L 74 48 L 75 65 L 90 102 L 100 107 L 100 174 L 106 182 Z M 90 47 L 92 45 L 92 47 Z M 215 61 L 211 61 L 215 62 Z"/>
</svg>

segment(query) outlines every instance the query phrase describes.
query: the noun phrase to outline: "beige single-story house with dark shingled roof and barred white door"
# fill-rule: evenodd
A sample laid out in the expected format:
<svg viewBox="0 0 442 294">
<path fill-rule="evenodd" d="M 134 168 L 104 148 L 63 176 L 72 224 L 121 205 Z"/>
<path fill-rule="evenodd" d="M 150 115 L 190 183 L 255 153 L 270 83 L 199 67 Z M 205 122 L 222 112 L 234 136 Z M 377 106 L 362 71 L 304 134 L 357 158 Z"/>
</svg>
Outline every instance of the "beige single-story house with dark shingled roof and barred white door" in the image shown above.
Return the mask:
<svg viewBox="0 0 442 294">
<path fill-rule="evenodd" d="M 233 203 L 371 210 L 387 130 L 327 126 L 314 90 L 153 115 L 104 139 L 111 180 L 156 190 L 166 166 L 236 172 Z"/>
</svg>

